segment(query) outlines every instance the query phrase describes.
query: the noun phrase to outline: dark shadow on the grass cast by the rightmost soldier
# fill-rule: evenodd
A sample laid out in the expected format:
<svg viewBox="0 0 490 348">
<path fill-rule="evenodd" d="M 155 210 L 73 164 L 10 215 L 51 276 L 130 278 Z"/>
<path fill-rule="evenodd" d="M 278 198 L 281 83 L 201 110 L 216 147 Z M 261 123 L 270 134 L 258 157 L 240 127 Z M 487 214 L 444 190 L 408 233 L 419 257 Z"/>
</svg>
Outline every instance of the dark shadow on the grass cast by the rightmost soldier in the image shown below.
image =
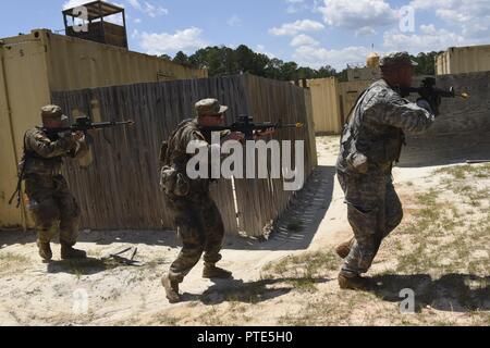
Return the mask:
<svg viewBox="0 0 490 348">
<path fill-rule="evenodd" d="M 428 274 L 380 275 L 372 279 L 372 294 L 382 300 L 401 302 L 407 299 L 404 289 L 415 295 L 415 311 L 430 306 L 440 311 L 468 312 L 490 310 L 490 276 L 446 274 L 432 279 Z"/>
</svg>

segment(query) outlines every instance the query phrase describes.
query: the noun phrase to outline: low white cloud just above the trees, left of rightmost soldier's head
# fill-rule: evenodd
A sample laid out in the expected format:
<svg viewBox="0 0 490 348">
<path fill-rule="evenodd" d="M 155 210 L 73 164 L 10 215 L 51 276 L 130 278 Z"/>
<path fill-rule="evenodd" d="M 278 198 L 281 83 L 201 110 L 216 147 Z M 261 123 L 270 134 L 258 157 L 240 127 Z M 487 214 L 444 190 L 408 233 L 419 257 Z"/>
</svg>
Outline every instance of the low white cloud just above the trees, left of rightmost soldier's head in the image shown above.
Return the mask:
<svg viewBox="0 0 490 348">
<path fill-rule="evenodd" d="M 365 62 L 370 50 L 366 47 L 346 47 L 340 50 L 328 50 L 313 46 L 301 46 L 293 53 L 293 59 L 299 64 L 318 69 L 331 65 L 340 71 L 348 63 Z"/>
</svg>

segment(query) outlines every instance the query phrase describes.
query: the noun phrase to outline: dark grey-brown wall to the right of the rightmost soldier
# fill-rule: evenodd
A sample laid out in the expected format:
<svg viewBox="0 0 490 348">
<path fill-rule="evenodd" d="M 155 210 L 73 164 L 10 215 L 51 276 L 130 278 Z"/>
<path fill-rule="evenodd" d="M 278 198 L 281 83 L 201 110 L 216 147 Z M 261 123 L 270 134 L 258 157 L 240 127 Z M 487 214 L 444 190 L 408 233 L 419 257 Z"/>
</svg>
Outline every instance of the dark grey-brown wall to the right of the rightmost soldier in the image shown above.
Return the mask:
<svg viewBox="0 0 490 348">
<path fill-rule="evenodd" d="M 408 136 L 402 166 L 490 160 L 490 72 L 438 76 L 438 86 L 470 95 L 444 99 L 441 115 L 425 134 Z"/>
</svg>

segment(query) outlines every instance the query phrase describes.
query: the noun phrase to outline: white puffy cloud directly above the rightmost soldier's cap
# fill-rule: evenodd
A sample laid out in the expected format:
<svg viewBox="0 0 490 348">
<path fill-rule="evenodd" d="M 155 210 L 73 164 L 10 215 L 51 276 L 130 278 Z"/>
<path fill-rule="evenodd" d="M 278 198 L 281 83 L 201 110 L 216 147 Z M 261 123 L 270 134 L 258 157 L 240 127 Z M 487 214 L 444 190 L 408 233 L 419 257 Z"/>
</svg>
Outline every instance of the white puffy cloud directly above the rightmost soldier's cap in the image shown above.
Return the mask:
<svg viewBox="0 0 490 348">
<path fill-rule="evenodd" d="M 384 33 L 384 48 L 391 51 L 419 52 L 445 50 L 452 46 L 464 46 L 467 40 L 446 29 L 437 29 L 433 24 L 421 25 L 420 34 L 404 34 L 399 30 Z"/>
</svg>

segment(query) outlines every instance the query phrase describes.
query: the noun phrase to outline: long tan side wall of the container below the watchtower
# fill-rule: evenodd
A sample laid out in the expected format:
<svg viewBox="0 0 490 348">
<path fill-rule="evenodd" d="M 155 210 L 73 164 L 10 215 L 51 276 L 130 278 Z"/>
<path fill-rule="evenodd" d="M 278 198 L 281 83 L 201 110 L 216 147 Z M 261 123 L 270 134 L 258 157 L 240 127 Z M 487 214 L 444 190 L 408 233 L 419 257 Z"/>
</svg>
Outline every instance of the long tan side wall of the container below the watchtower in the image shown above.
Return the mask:
<svg viewBox="0 0 490 348">
<path fill-rule="evenodd" d="M 123 48 L 46 32 L 42 40 L 52 91 L 207 77 L 207 71 Z"/>
</svg>

